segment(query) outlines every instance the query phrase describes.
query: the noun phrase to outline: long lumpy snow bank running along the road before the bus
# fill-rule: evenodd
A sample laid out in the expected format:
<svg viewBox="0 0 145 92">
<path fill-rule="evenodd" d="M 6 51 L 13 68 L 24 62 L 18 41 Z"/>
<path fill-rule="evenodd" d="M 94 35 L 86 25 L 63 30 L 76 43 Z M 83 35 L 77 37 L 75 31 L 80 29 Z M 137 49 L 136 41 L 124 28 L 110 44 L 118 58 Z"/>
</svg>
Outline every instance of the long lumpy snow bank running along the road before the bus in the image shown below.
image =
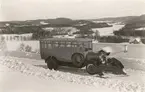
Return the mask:
<svg viewBox="0 0 145 92">
<path fill-rule="evenodd" d="M 77 84 L 87 84 L 93 86 L 107 86 L 113 88 L 116 92 L 144 92 L 145 83 L 136 83 L 132 81 L 123 81 L 118 79 L 102 79 L 96 76 L 90 75 L 77 75 L 67 72 L 54 71 L 49 69 L 44 69 L 30 64 L 24 64 L 14 58 L 7 56 L 0 57 L 0 64 L 3 64 L 11 69 L 20 71 L 27 75 L 38 76 L 45 79 L 62 80 Z M 127 70 L 130 71 L 130 70 Z M 142 72 L 145 74 L 145 72 Z M 112 75 L 108 75 L 112 77 Z"/>
</svg>

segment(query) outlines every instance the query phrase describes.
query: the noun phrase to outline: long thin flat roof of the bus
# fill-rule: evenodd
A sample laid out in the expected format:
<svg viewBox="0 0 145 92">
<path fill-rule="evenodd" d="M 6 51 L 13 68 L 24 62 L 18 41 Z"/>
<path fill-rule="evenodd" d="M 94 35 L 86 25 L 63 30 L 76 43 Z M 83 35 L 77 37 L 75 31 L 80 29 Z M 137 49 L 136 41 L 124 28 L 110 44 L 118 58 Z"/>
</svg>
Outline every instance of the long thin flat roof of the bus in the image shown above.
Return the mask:
<svg viewBox="0 0 145 92">
<path fill-rule="evenodd" d="M 46 39 L 41 39 L 42 41 L 92 41 L 92 39 L 88 38 L 46 38 Z"/>
</svg>

